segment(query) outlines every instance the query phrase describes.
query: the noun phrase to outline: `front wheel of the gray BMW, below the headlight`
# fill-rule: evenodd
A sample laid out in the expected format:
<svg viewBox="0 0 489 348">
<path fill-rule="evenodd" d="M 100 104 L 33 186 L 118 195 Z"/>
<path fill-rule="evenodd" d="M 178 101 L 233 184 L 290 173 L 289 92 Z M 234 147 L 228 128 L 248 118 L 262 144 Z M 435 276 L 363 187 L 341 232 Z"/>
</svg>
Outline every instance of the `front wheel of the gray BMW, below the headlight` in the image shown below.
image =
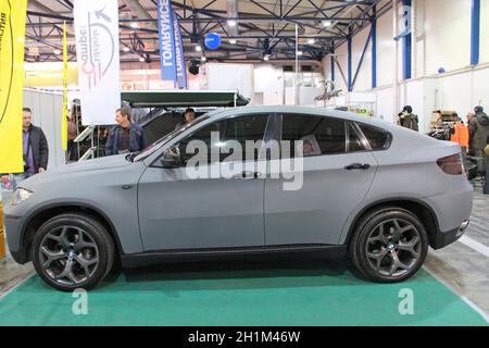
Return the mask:
<svg viewBox="0 0 489 348">
<path fill-rule="evenodd" d="M 37 231 L 30 252 L 34 268 L 48 285 L 73 291 L 97 286 L 111 270 L 115 249 L 96 219 L 61 214 Z"/>
</svg>

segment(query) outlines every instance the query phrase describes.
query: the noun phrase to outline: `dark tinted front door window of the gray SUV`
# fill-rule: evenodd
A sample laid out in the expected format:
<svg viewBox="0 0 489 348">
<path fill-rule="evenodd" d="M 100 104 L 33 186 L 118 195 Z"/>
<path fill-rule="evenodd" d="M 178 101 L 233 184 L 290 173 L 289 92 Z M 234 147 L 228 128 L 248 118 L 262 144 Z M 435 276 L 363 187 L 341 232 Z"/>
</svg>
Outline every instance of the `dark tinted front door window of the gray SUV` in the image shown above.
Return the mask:
<svg viewBox="0 0 489 348">
<path fill-rule="evenodd" d="M 226 147 L 226 144 L 230 144 L 230 140 L 237 140 L 242 148 L 241 159 L 246 159 L 246 141 L 252 140 L 258 141 L 262 140 L 265 134 L 265 127 L 268 117 L 266 115 L 258 115 L 258 116 L 243 116 L 236 119 L 223 120 L 220 122 L 214 122 L 204 128 L 196 132 L 191 136 L 187 137 L 185 140 L 181 140 L 179 144 L 180 153 L 184 154 L 187 152 L 187 145 L 192 140 L 201 140 L 205 144 L 208 149 L 208 159 L 211 162 L 211 153 L 212 151 L 218 151 Z M 218 141 L 212 142 L 211 134 L 212 132 L 218 133 Z M 224 152 L 224 151 L 221 151 Z M 258 151 L 255 151 L 258 153 Z M 195 153 L 187 153 L 185 159 L 190 159 Z M 215 152 L 217 153 L 217 152 Z M 234 151 L 229 150 L 226 153 L 222 153 L 220 160 L 228 158 L 233 154 Z M 256 158 L 255 153 L 255 158 Z"/>
</svg>

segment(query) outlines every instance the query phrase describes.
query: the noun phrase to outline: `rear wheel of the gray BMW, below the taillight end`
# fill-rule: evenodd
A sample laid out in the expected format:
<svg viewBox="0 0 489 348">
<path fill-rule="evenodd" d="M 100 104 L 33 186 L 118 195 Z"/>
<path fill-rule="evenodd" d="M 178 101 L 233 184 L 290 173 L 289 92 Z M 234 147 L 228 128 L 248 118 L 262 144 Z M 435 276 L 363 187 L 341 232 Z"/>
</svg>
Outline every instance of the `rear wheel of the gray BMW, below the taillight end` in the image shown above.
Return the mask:
<svg viewBox="0 0 489 348">
<path fill-rule="evenodd" d="M 398 283 L 413 276 L 426 260 L 428 236 L 418 217 L 400 208 L 367 213 L 349 246 L 362 274 L 378 283 Z"/>
</svg>

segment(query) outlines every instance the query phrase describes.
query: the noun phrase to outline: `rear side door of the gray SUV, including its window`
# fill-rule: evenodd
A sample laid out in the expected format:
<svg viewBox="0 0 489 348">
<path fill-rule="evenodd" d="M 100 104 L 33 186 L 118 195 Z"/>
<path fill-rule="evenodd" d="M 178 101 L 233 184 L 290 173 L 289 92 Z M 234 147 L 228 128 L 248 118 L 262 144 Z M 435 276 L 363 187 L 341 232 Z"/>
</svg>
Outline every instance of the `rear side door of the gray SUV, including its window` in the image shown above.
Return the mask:
<svg viewBox="0 0 489 348">
<path fill-rule="evenodd" d="M 265 243 L 337 245 L 350 212 L 368 191 L 377 162 L 353 123 L 302 114 L 277 117 L 281 140 L 303 141 L 303 170 L 289 169 L 293 142 L 279 166 L 271 161 L 271 177 L 278 167 L 281 176 L 265 182 Z M 293 175 L 298 183 L 302 175 L 302 185 L 287 190 L 284 184 Z"/>
</svg>

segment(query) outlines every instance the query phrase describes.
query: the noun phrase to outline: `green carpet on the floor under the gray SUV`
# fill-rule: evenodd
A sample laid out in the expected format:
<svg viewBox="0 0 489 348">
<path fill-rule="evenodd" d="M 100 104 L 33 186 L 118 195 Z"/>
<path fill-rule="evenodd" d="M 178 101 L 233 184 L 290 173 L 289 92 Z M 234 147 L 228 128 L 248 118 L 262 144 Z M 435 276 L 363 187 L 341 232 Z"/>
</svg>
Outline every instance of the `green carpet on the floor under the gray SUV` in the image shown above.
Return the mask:
<svg viewBox="0 0 489 348">
<path fill-rule="evenodd" d="M 125 272 L 88 294 L 87 315 L 73 314 L 72 294 L 33 276 L 0 299 L 0 325 L 488 325 L 424 270 L 406 283 L 379 285 L 343 263 L 319 264 L 248 261 Z M 413 315 L 399 313 L 405 288 L 414 295 Z"/>
</svg>

